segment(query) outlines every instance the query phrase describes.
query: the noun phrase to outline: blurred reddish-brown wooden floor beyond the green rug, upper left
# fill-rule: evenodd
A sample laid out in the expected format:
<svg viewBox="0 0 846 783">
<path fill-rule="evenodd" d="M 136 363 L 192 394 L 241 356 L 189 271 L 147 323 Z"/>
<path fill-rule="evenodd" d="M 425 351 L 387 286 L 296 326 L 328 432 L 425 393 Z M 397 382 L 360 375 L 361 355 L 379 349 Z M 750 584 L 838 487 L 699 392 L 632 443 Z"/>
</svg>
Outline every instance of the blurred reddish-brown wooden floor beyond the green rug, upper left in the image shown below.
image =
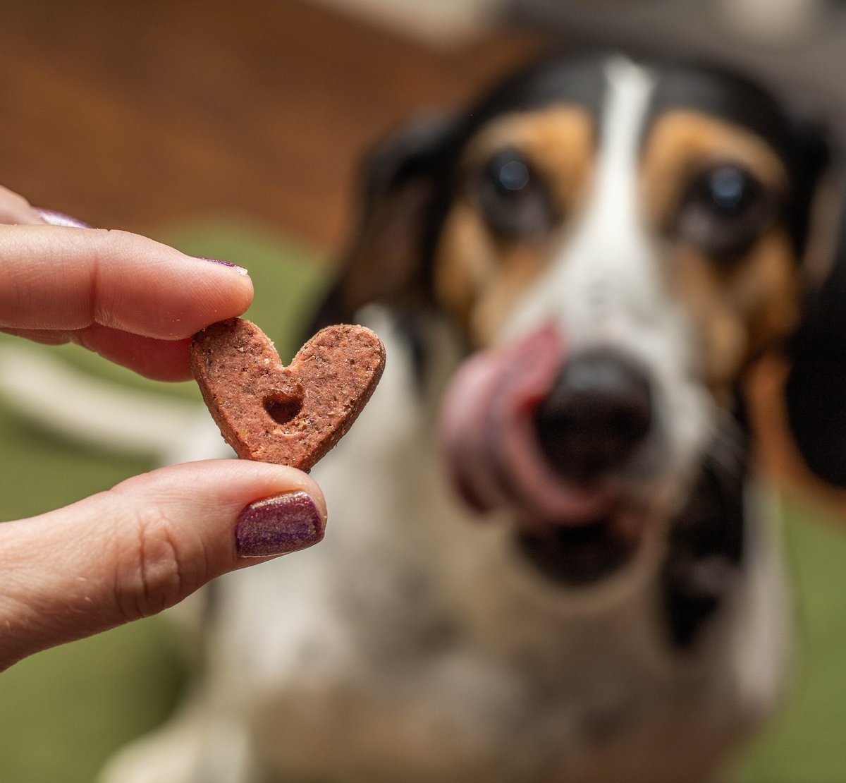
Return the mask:
<svg viewBox="0 0 846 783">
<path fill-rule="evenodd" d="M 234 215 L 333 248 L 374 139 L 536 47 L 438 52 L 293 0 L 5 0 L 0 183 L 101 227 Z"/>
</svg>

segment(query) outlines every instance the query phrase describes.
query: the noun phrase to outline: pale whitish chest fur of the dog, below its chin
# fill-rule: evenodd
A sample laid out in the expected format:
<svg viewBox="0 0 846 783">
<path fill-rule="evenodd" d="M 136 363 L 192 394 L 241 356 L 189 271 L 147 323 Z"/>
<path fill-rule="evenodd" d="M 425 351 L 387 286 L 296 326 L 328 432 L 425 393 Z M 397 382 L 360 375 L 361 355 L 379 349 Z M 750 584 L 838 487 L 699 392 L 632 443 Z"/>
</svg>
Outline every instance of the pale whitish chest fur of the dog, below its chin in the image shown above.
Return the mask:
<svg viewBox="0 0 846 783">
<path fill-rule="evenodd" d="M 700 778 L 781 681 L 780 582 L 761 531 L 750 525 L 748 567 L 694 653 L 667 641 L 654 577 L 571 605 L 505 526 L 459 510 L 408 346 L 382 313 L 371 325 L 390 356 L 382 385 L 316 470 L 338 523 L 309 554 L 228 576 L 219 608 L 222 690 L 244 698 L 268 768 L 285 780 Z"/>
</svg>

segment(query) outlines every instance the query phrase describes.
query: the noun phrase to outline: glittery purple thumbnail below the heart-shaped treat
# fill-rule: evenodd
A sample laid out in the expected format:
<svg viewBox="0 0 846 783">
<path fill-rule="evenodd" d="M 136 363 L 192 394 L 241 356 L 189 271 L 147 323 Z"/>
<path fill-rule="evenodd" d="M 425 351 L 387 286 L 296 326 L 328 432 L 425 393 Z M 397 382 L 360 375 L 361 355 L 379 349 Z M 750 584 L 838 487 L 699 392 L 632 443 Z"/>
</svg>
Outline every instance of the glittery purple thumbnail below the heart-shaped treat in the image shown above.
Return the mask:
<svg viewBox="0 0 846 783">
<path fill-rule="evenodd" d="M 321 538 L 321 513 L 305 492 L 256 500 L 241 511 L 235 525 L 235 547 L 241 557 L 296 552 Z"/>
</svg>

